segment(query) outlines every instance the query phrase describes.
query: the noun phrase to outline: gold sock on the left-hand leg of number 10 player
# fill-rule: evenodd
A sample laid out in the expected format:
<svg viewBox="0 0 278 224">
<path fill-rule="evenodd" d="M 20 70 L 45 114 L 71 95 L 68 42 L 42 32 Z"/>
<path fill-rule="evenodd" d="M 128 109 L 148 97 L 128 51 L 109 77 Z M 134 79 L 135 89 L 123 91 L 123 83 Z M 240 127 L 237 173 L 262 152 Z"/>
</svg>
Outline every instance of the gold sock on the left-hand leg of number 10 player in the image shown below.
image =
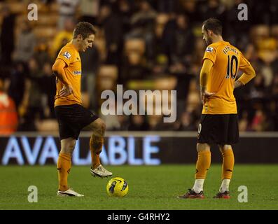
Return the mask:
<svg viewBox="0 0 278 224">
<path fill-rule="evenodd" d="M 211 165 L 211 152 L 198 152 L 198 159 L 196 163 L 195 179 L 206 179 L 207 171 Z"/>
</svg>

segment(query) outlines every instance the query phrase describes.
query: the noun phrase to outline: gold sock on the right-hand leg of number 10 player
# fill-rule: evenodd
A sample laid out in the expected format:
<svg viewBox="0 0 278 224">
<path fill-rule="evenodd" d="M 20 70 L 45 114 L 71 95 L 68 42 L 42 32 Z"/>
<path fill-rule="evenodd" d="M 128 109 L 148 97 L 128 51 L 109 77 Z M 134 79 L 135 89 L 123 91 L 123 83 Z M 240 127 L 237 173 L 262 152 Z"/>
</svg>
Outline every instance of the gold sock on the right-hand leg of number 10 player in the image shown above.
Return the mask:
<svg viewBox="0 0 278 224">
<path fill-rule="evenodd" d="M 222 153 L 223 164 L 222 164 L 222 180 L 232 178 L 232 170 L 234 169 L 235 158 L 232 153 L 232 148 L 226 149 Z"/>
</svg>

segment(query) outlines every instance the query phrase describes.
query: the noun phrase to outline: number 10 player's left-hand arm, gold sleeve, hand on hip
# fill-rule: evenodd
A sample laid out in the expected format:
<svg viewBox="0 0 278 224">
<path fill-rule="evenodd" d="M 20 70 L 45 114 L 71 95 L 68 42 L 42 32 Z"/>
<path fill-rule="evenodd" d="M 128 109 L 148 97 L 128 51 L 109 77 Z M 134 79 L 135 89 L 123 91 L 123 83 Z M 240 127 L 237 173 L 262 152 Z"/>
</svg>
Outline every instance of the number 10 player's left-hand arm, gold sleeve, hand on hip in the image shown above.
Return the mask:
<svg viewBox="0 0 278 224">
<path fill-rule="evenodd" d="M 205 104 L 207 102 L 207 98 L 214 94 L 212 92 L 207 92 L 207 80 L 212 66 L 214 66 L 214 63 L 211 59 L 204 59 L 200 72 L 200 96 L 202 104 Z"/>
</svg>

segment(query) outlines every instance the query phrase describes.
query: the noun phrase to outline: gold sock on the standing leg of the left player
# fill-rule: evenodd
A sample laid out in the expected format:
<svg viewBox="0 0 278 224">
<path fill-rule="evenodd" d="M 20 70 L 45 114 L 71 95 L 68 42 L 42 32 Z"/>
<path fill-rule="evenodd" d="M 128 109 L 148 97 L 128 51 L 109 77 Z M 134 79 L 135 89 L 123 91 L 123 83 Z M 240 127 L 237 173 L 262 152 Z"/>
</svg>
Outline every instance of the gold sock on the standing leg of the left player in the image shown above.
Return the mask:
<svg viewBox="0 0 278 224">
<path fill-rule="evenodd" d="M 65 191 L 69 187 L 67 185 L 67 176 L 71 170 L 71 155 L 67 153 L 60 153 L 57 161 L 59 190 Z"/>
</svg>

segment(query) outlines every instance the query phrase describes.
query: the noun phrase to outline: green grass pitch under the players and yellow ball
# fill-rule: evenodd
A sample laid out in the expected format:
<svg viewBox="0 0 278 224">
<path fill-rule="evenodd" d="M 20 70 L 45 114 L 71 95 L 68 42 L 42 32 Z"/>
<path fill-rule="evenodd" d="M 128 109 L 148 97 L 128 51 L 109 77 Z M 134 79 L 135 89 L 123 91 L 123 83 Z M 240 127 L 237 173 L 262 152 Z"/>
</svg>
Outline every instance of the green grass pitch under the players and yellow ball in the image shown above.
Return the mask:
<svg viewBox="0 0 278 224">
<path fill-rule="evenodd" d="M 221 184 L 221 165 L 211 165 L 204 183 L 204 200 L 180 200 L 177 195 L 193 186 L 195 165 L 107 166 L 123 177 L 129 193 L 123 198 L 106 195 L 109 179 L 90 176 L 90 167 L 72 167 L 69 186 L 78 197 L 58 197 L 55 166 L 0 167 L 0 209 L 189 210 L 278 209 L 278 165 L 235 165 L 230 200 L 212 197 Z M 28 187 L 38 188 L 38 202 L 29 203 Z M 239 203 L 239 186 L 248 189 L 248 202 Z"/>
</svg>

